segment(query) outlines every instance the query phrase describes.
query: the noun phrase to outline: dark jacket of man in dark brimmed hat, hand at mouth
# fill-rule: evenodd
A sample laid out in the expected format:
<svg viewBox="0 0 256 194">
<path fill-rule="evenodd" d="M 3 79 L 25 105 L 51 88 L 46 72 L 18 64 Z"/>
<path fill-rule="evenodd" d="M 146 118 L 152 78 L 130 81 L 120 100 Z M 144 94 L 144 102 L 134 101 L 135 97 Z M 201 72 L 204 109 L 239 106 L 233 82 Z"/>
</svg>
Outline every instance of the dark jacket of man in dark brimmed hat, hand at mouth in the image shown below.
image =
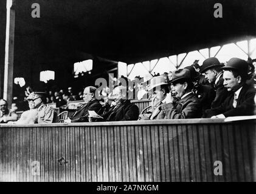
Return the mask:
<svg viewBox="0 0 256 194">
<path fill-rule="evenodd" d="M 165 119 L 201 118 L 201 105 L 193 93 L 179 99 L 176 103 L 168 103 L 164 107 Z"/>
</svg>

